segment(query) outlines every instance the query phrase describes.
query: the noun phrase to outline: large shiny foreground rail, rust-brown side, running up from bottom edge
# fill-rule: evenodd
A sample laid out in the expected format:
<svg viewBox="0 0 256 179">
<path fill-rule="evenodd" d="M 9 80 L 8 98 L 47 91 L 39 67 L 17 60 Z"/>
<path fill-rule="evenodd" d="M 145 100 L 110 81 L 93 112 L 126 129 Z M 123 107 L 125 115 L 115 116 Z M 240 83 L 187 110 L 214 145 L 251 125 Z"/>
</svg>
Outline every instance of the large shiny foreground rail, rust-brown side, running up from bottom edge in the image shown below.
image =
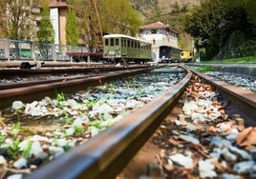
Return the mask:
<svg viewBox="0 0 256 179">
<path fill-rule="evenodd" d="M 188 71 L 180 83 L 160 97 L 27 177 L 115 178 L 175 107 L 191 76 Z"/>
</svg>

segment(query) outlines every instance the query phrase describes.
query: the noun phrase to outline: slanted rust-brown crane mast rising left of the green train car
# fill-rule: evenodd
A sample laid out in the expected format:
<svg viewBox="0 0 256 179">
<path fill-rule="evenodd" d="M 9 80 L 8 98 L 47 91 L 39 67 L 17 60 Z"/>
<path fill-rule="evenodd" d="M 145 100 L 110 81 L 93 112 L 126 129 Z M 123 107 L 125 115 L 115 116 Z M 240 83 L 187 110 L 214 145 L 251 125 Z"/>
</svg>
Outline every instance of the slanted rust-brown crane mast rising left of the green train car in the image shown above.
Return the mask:
<svg viewBox="0 0 256 179">
<path fill-rule="evenodd" d="M 96 48 L 96 51 L 102 50 L 103 47 L 103 32 L 102 27 L 99 19 L 99 14 L 96 6 L 96 0 L 89 0 L 89 7 L 90 7 L 90 29 L 92 35 L 92 43 L 91 46 Z"/>
</svg>

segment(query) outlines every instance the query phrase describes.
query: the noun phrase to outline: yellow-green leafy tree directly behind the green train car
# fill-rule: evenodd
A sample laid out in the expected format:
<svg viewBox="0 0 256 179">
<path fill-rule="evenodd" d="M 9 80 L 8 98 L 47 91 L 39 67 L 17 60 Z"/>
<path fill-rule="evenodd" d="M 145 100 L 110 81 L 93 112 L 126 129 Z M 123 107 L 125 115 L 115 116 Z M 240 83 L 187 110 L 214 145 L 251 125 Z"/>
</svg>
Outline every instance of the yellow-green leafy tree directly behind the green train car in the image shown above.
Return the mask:
<svg viewBox="0 0 256 179">
<path fill-rule="evenodd" d="M 69 0 L 68 5 L 75 11 L 79 44 L 91 44 L 91 10 L 88 0 Z M 139 13 L 128 0 L 96 0 L 103 32 L 135 35 L 142 25 Z"/>
</svg>

